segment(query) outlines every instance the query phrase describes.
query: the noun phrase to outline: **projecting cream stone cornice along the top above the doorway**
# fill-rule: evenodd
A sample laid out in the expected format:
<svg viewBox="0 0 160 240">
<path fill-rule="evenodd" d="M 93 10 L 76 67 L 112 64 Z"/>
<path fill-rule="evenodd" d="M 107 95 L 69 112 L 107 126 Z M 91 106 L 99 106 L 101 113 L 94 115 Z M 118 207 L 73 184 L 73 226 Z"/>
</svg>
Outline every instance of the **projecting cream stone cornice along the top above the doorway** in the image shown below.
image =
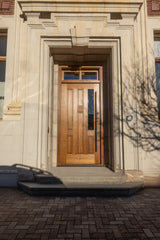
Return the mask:
<svg viewBox="0 0 160 240">
<path fill-rule="evenodd" d="M 22 12 L 53 12 L 53 13 L 128 13 L 138 14 L 143 0 L 19 0 Z"/>
</svg>

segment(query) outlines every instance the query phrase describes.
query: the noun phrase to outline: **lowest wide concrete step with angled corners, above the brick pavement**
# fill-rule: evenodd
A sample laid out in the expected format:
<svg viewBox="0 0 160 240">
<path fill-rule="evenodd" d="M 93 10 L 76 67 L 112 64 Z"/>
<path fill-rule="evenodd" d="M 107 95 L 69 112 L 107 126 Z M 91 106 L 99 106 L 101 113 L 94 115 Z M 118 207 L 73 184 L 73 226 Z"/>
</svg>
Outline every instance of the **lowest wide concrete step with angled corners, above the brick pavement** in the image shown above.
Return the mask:
<svg viewBox="0 0 160 240">
<path fill-rule="evenodd" d="M 19 182 L 24 192 L 33 196 L 131 196 L 143 188 L 143 182 L 121 184 L 39 184 Z"/>
</svg>

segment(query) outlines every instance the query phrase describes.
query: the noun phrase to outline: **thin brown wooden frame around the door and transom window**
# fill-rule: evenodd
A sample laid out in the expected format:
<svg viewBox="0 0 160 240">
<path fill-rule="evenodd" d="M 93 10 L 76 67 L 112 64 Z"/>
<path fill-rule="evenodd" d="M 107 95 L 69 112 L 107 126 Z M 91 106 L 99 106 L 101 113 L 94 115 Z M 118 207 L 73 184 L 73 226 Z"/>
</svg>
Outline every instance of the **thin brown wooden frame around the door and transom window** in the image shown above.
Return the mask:
<svg viewBox="0 0 160 240">
<path fill-rule="evenodd" d="M 99 74 L 99 95 L 100 95 L 100 165 L 104 166 L 104 137 L 103 137 L 103 66 L 81 66 L 82 70 L 97 70 Z M 60 136 L 61 136 L 61 127 L 60 127 L 60 119 L 61 119 L 61 92 L 62 92 L 62 69 L 69 70 L 70 66 L 59 66 L 58 70 L 58 139 L 57 139 L 57 166 L 68 166 L 69 164 L 62 164 L 60 159 Z M 80 82 L 79 84 L 81 84 Z M 68 83 L 69 84 L 69 83 Z M 82 83 L 84 84 L 84 82 Z M 94 81 L 88 81 L 87 84 L 96 84 Z M 80 166 L 83 164 L 76 164 L 72 166 Z M 86 166 L 87 164 L 85 164 Z M 89 164 L 91 166 L 93 164 Z M 97 164 L 94 164 L 97 166 Z"/>
</svg>

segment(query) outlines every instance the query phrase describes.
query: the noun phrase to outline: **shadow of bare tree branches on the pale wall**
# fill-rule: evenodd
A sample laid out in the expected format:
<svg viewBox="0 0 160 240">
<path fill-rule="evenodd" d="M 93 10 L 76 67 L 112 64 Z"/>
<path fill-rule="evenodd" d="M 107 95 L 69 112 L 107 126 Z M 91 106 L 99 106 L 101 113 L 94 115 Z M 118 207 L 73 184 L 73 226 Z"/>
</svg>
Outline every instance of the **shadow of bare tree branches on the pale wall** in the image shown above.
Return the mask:
<svg viewBox="0 0 160 240">
<path fill-rule="evenodd" d="M 160 90 L 156 85 L 156 76 L 146 71 L 144 77 L 140 65 L 133 66 L 132 71 L 126 70 L 126 79 L 122 83 L 123 94 L 123 134 L 135 147 L 145 152 L 160 150 Z M 134 73 L 133 73 L 134 72 Z M 159 80 L 160 82 L 160 80 Z M 159 116 L 159 117 L 158 117 Z M 115 116 L 122 121 L 119 116 Z"/>
</svg>

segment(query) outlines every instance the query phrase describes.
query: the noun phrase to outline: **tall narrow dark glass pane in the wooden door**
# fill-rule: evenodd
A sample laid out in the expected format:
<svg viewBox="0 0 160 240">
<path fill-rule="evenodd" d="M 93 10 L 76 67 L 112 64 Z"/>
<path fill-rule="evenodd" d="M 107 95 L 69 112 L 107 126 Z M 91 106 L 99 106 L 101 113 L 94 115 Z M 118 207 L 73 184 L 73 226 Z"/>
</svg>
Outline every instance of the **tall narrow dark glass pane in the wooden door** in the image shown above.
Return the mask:
<svg viewBox="0 0 160 240">
<path fill-rule="evenodd" d="M 94 90 L 88 89 L 88 130 L 94 130 Z"/>
</svg>

